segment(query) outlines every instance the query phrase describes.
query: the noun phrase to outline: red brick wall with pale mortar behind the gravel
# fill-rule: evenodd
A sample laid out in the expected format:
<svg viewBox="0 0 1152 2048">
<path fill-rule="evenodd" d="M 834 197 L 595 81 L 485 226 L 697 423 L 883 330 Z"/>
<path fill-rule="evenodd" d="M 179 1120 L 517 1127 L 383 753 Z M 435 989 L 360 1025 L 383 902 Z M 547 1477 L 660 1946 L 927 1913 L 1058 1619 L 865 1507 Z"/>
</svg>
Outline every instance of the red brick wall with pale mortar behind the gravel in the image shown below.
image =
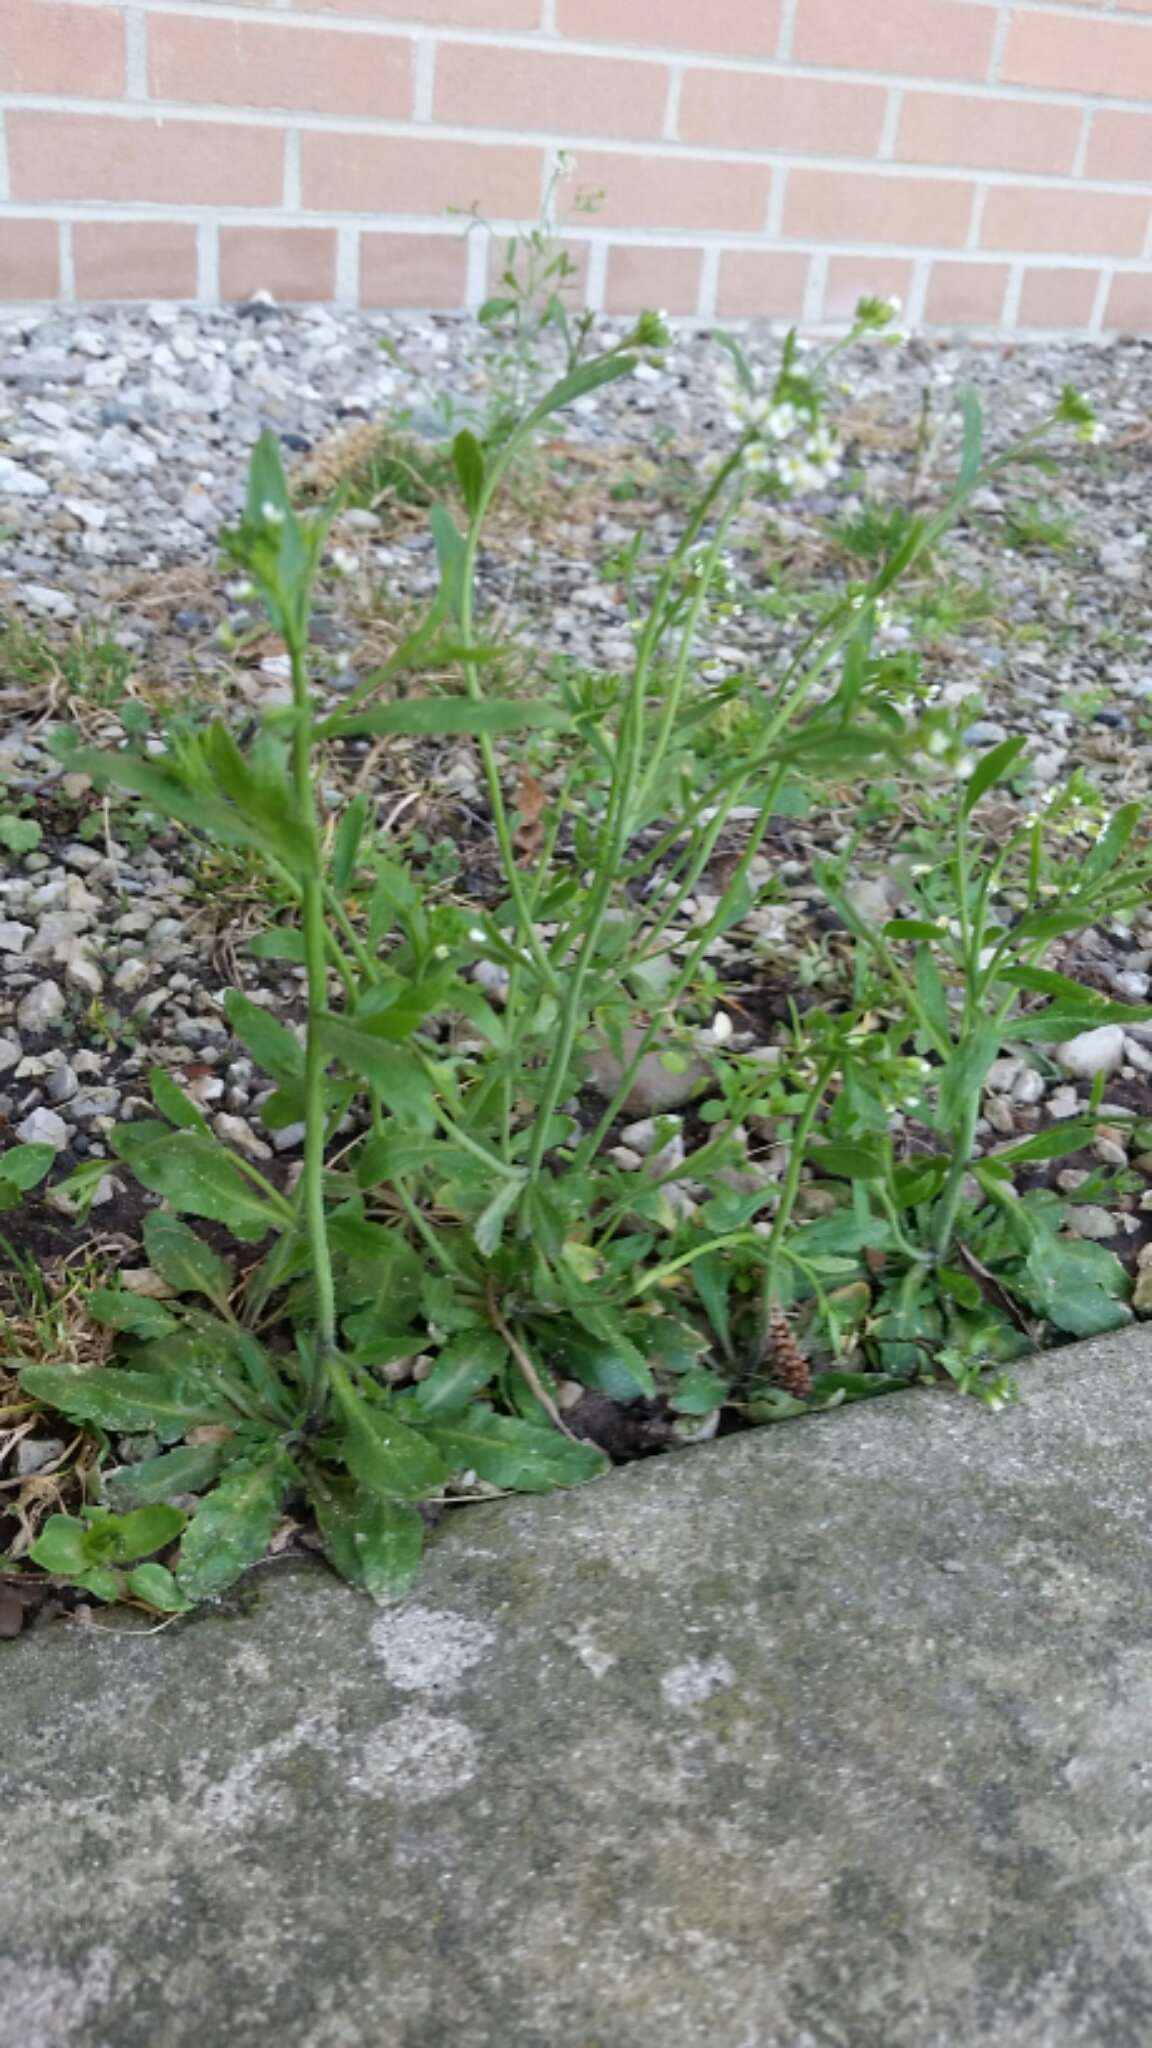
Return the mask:
<svg viewBox="0 0 1152 2048">
<path fill-rule="evenodd" d="M 1152 330 L 1152 0 L 0 0 L 0 295 Z"/>
</svg>

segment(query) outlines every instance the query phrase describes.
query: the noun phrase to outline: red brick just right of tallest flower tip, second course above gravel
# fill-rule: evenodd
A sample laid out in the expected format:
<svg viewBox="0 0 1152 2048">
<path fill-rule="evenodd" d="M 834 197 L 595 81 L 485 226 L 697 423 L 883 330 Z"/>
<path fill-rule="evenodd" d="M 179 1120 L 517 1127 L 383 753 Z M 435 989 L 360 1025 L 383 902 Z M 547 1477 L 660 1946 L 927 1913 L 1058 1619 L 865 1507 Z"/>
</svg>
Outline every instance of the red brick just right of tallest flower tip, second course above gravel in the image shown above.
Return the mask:
<svg viewBox="0 0 1152 2048">
<path fill-rule="evenodd" d="M 769 164 L 580 150 L 580 184 L 605 195 L 596 221 L 607 227 L 760 233 L 771 180 Z"/>
</svg>

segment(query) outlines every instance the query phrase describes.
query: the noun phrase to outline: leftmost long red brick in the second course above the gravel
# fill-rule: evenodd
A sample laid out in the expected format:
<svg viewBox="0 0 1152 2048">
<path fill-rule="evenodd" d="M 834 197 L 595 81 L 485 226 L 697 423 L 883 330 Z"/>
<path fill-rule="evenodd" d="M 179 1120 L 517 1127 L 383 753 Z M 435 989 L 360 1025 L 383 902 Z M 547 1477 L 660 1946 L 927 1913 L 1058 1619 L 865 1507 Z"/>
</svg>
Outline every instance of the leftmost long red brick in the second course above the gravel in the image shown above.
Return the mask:
<svg viewBox="0 0 1152 2048">
<path fill-rule="evenodd" d="M 275 207 L 283 135 L 211 121 L 8 113 L 12 199 L 146 199 L 174 207 Z"/>
</svg>

